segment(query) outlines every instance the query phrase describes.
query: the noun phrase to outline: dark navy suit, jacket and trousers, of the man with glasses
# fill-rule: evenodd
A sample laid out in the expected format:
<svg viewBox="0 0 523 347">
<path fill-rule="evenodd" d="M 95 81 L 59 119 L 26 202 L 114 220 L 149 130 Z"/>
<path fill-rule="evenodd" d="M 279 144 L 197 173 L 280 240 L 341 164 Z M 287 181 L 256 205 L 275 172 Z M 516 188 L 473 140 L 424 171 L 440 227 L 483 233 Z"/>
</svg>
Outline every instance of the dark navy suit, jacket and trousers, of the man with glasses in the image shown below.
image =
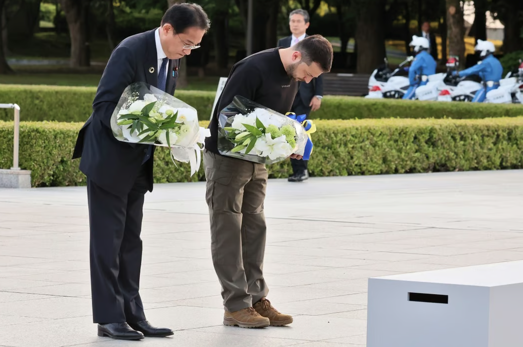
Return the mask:
<svg viewBox="0 0 523 347">
<path fill-rule="evenodd" d="M 98 85 L 93 113 L 80 130 L 74 149 L 73 159 L 82 158 L 79 167 L 87 176 L 95 323 L 145 319 L 138 294 L 140 232 L 144 194 L 153 189 L 154 146 L 149 160 L 142 164 L 149 145 L 116 140 L 110 119 L 131 83 L 145 82 L 174 94 L 179 60 L 168 61 L 166 86 L 158 86 L 155 30 L 123 40 L 112 52 Z"/>
</svg>

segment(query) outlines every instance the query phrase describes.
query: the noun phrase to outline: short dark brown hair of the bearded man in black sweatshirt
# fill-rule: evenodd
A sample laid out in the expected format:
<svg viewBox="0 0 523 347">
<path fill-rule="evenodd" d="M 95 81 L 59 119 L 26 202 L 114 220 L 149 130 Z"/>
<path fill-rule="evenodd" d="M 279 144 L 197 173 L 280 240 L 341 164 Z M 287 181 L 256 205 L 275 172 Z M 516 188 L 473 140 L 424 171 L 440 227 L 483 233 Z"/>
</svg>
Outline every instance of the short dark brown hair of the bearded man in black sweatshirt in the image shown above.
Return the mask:
<svg viewBox="0 0 523 347">
<path fill-rule="evenodd" d="M 332 44 L 321 35 L 312 35 L 294 45 L 301 53 L 301 61 L 307 65 L 313 62 L 320 65 L 323 72 L 330 72 L 332 67 Z"/>
</svg>

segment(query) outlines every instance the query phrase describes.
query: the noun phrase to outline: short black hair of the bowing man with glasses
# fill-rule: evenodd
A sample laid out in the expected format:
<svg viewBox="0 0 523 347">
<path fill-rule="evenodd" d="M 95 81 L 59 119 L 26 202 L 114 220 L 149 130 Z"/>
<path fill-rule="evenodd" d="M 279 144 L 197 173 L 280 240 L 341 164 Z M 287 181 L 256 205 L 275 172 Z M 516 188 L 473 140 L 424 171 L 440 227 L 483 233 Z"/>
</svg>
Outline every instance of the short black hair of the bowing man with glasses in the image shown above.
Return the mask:
<svg viewBox="0 0 523 347">
<path fill-rule="evenodd" d="M 176 33 L 181 33 L 188 28 L 197 27 L 202 30 L 209 30 L 211 21 L 207 13 L 198 4 L 174 4 L 165 12 L 162 17 L 162 23 L 173 26 Z"/>
</svg>

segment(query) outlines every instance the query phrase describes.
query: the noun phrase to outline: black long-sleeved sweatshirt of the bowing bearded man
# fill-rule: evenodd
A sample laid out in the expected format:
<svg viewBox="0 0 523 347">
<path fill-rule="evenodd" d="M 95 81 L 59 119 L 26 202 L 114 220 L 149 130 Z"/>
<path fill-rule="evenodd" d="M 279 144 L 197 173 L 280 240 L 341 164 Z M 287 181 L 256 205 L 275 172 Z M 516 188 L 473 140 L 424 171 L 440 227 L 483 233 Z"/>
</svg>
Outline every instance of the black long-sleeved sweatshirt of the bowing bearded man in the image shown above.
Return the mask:
<svg viewBox="0 0 523 347">
<path fill-rule="evenodd" d="M 218 153 L 218 116 L 236 95 L 275 110 L 282 115 L 291 111 L 298 82 L 291 79 L 283 67 L 279 48 L 261 51 L 234 64 L 209 124 L 211 137 L 205 148 Z"/>
</svg>

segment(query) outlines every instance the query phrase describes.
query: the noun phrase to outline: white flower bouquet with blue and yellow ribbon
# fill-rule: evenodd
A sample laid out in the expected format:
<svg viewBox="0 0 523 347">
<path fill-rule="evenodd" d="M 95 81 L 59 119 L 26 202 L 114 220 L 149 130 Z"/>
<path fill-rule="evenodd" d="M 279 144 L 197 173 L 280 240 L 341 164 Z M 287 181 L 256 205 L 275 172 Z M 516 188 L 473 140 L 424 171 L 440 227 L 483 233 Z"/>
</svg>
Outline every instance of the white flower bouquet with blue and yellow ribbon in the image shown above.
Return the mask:
<svg viewBox="0 0 523 347">
<path fill-rule="evenodd" d="M 293 153 L 306 154 L 309 141 L 308 132 L 300 122 L 242 96 L 235 96 L 220 111 L 218 151 L 222 155 L 272 164 Z M 312 150 L 312 142 L 310 145 Z"/>
</svg>

